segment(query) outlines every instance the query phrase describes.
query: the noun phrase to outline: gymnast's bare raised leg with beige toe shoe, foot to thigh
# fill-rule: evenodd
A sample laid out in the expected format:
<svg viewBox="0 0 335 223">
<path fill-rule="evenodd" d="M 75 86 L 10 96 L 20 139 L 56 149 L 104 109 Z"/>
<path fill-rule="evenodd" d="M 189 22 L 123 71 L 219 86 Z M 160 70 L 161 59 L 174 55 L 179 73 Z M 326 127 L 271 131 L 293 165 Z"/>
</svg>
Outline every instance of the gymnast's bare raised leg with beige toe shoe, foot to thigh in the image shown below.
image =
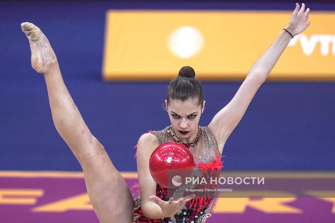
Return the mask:
<svg viewBox="0 0 335 223">
<path fill-rule="evenodd" d="M 61 75 L 47 37 L 32 23 L 21 24 L 31 50 L 31 66 L 43 73 L 55 127 L 78 159 L 88 196 L 100 222 L 133 222 L 134 201 L 129 187 L 105 148 L 87 128 Z"/>
</svg>

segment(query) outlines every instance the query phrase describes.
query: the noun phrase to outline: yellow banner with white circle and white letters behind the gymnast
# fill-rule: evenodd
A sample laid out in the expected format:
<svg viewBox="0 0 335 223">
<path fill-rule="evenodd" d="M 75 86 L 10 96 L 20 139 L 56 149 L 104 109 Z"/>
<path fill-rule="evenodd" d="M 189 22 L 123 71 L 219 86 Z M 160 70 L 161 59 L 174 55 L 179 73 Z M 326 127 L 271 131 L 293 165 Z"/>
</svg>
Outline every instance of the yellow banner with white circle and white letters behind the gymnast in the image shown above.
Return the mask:
<svg viewBox="0 0 335 223">
<path fill-rule="evenodd" d="M 171 80 L 191 66 L 202 80 L 244 79 L 289 11 L 108 11 L 103 78 Z M 268 80 L 335 80 L 335 13 L 311 12 Z"/>
</svg>

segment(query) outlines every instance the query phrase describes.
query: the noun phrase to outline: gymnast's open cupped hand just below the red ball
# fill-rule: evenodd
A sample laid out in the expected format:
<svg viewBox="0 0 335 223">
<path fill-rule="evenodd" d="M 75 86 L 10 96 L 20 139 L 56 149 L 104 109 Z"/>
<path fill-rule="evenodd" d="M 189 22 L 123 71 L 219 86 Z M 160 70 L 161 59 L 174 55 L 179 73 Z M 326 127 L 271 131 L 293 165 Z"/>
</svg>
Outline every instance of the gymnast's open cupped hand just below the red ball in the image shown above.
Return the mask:
<svg viewBox="0 0 335 223">
<path fill-rule="evenodd" d="M 185 196 L 183 198 L 180 198 L 177 201 L 174 201 L 174 198 L 170 198 L 169 201 L 163 201 L 157 196 L 150 196 L 149 200 L 154 200 L 159 205 L 164 218 L 166 218 L 174 216 L 184 204 L 186 204 L 193 198 L 195 198 L 194 194 L 191 196 Z"/>
</svg>

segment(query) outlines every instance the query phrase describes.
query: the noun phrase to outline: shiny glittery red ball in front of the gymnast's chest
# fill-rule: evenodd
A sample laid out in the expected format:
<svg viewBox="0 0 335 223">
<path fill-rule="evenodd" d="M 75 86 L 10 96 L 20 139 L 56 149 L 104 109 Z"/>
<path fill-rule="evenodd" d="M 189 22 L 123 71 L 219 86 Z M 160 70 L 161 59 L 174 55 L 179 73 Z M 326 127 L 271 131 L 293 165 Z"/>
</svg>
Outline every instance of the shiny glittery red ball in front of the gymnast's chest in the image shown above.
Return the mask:
<svg viewBox="0 0 335 223">
<path fill-rule="evenodd" d="M 193 154 L 190 150 L 179 143 L 168 142 L 158 146 L 151 154 L 149 160 L 149 170 L 152 178 L 165 188 L 178 188 L 181 185 L 175 185 L 171 174 L 178 182 L 185 177 L 192 177 L 195 170 Z M 169 171 L 174 170 L 174 171 Z M 168 179 L 168 171 L 169 177 Z M 184 180 L 185 181 L 185 180 Z M 184 182 L 183 181 L 183 182 Z"/>
</svg>

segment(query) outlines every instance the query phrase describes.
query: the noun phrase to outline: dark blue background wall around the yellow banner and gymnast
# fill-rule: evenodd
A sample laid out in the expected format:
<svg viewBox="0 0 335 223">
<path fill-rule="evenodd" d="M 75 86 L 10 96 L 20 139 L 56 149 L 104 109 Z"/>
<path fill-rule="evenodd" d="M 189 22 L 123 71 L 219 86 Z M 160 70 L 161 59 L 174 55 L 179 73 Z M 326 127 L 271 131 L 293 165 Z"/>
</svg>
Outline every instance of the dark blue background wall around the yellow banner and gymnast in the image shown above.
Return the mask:
<svg viewBox="0 0 335 223">
<path fill-rule="evenodd" d="M 311 10 L 335 10 L 334 2 L 305 3 Z M 294 2 L 0 2 L 0 170 L 81 170 L 53 125 L 43 75 L 31 68 L 20 28 L 25 21 L 48 36 L 70 94 L 118 170 L 136 171 L 138 138 L 170 125 L 161 106 L 167 82 L 102 81 L 109 9 L 293 10 Z M 200 125 L 208 125 L 240 85 L 203 82 Z M 335 169 L 334 93 L 331 82 L 265 82 L 225 144 L 224 168 Z"/>
</svg>

